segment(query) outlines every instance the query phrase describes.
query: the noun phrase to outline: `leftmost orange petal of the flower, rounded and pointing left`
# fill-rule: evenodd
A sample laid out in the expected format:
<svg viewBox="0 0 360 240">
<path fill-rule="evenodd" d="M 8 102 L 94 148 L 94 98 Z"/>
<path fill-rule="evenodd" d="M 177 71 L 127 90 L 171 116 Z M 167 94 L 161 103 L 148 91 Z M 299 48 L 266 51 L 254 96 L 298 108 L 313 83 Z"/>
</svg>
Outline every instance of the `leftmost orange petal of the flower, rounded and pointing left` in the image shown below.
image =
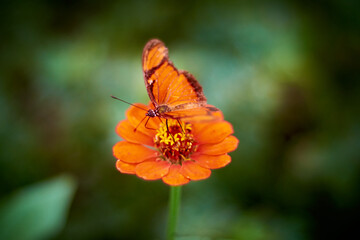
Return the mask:
<svg viewBox="0 0 360 240">
<path fill-rule="evenodd" d="M 121 141 L 113 147 L 114 156 L 127 163 L 139 163 L 157 156 L 157 152 L 140 144 Z"/>
</svg>

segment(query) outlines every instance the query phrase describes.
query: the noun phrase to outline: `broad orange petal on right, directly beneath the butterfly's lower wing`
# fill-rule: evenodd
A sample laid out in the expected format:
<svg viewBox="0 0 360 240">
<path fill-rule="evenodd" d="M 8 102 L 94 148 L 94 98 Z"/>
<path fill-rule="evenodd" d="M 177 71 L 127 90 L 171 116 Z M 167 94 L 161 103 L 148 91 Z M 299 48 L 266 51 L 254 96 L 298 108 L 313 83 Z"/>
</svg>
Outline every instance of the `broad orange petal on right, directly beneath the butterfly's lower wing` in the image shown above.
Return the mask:
<svg viewBox="0 0 360 240">
<path fill-rule="evenodd" d="M 234 133 L 234 129 L 229 122 L 220 121 L 215 123 L 194 123 L 193 135 L 200 144 L 219 143 L 227 136 Z"/>
</svg>

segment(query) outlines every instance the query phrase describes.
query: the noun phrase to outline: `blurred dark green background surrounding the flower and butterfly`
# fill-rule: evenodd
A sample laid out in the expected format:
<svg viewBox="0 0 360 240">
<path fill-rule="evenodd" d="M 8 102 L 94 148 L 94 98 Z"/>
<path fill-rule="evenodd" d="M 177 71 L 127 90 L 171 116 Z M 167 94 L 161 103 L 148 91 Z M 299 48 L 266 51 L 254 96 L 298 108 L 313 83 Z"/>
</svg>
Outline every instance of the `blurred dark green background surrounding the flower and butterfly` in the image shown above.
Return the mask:
<svg viewBox="0 0 360 240">
<path fill-rule="evenodd" d="M 0 238 L 162 239 L 169 187 L 115 169 L 159 38 L 240 140 L 183 187 L 179 239 L 344 239 L 358 228 L 359 1 L 6 1 Z"/>
</svg>

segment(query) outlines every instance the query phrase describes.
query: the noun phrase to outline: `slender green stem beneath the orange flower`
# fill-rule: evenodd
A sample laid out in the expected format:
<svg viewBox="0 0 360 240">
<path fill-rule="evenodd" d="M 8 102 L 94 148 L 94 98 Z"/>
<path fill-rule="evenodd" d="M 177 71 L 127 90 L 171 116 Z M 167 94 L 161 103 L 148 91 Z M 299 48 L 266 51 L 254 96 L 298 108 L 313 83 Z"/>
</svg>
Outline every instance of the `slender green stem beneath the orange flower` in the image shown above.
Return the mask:
<svg viewBox="0 0 360 240">
<path fill-rule="evenodd" d="M 170 187 L 170 199 L 169 199 L 169 219 L 167 226 L 167 240 L 175 239 L 176 225 L 179 215 L 181 199 L 181 186 Z"/>
</svg>

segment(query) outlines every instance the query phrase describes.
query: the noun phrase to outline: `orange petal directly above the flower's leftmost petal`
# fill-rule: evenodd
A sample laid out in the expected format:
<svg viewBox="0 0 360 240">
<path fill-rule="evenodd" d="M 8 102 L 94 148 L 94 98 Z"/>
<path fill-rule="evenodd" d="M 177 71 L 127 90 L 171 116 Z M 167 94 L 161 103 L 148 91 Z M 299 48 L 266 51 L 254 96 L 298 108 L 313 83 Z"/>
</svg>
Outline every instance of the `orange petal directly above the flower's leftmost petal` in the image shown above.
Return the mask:
<svg viewBox="0 0 360 240">
<path fill-rule="evenodd" d="M 124 140 L 129 142 L 146 144 L 149 146 L 154 145 L 154 140 L 152 137 L 142 133 L 140 129 L 137 129 L 136 132 L 134 132 L 134 129 L 135 128 L 130 124 L 129 121 L 123 120 L 116 126 L 116 133 L 119 134 L 119 136 Z"/>
</svg>

